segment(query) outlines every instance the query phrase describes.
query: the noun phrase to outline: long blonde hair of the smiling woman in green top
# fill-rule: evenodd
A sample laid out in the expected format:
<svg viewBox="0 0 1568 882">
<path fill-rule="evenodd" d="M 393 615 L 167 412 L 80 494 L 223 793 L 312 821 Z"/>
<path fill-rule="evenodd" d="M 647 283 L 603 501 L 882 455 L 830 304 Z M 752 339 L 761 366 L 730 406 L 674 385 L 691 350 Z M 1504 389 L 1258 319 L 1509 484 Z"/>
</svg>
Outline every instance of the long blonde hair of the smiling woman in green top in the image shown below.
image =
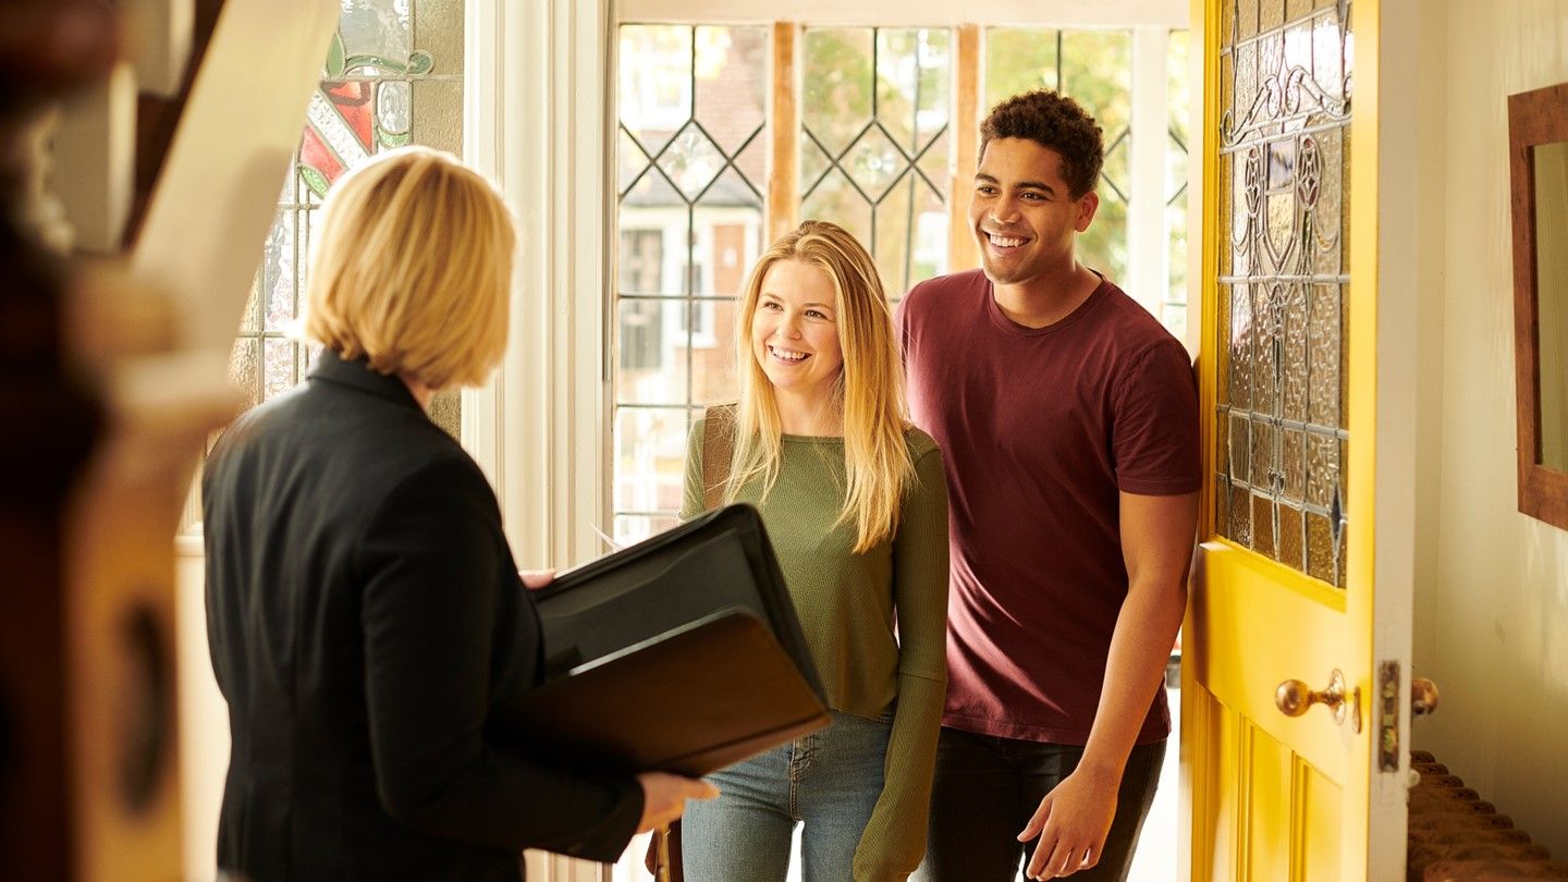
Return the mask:
<svg viewBox="0 0 1568 882">
<path fill-rule="evenodd" d="M 724 499 L 734 502 L 737 490 L 757 477 L 765 497 L 779 474 L 782 422 L 773 383 L 751 347 L 751 323 L 762 281 L 781 261 L 815 267 L 833 282 L 844 352 L 833 395 L 833 406 L 840 406 L 844 417 L 845 488 L 837 523 L 855 523 L 855 551 L 866 552 L 897 532 L 914 463 L 905 441 L 903 370 L 881 276 L 866 248 L 837 224 L 800 224 L 768 246 L 746 279 L 735 323 L 740 402 Z"/>
</svg>

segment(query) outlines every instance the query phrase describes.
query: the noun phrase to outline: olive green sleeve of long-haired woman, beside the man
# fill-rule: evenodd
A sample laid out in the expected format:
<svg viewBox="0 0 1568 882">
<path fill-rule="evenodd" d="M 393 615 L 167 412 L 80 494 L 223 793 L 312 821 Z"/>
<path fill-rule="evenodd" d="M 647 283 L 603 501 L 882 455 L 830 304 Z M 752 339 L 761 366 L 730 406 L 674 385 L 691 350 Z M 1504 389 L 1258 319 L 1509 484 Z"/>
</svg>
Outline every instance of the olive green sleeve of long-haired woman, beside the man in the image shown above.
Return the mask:
<svg viewBox="0 0 1568 882">
<path fill-rule="evenodd" d="M 892 543 L 898 705 L 883 793 L 855 852 L 855 879 L 903 879 L 925 854 L 936 736 L 947 698 L 947 477 L 931 447 L 916 461 Z"/>
</svg>

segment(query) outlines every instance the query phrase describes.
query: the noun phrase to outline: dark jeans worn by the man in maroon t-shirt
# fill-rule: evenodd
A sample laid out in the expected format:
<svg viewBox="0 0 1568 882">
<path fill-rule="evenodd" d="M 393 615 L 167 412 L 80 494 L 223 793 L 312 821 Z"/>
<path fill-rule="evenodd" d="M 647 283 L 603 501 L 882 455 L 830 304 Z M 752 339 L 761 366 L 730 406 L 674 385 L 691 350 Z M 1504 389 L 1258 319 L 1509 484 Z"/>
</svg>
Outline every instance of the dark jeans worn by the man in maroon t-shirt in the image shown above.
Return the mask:
<svg viewBox="0 0 1568 882">
<path fill-rule="evenodd" d="M 942 727 L 936 747 L 931 827 L 919 882 L 1011 882 L 1035 841 L 1018 833 L 1040 800 L 1073 774 L 1083 747 L 975 734 Z M 1116 793 L 1116 816 L 1105 851 L 1074 882 L 1124 880 L 1138 830 L 1154 802 L 1165 742 L 1138 744 L 1127 756 Z"/>
</svg>

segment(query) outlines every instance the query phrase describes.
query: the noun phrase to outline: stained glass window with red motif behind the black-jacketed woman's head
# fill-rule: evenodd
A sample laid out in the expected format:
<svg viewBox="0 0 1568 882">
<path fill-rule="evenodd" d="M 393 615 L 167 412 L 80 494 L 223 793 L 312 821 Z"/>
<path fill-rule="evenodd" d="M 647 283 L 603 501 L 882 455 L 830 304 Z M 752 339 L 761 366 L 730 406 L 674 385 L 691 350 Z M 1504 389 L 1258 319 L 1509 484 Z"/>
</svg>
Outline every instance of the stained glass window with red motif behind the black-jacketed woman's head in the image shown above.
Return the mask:
<svg viewBox="0 0 1568 882">
<path fill-rule="evenodd" d="M 463 152 L 463 0 L 343 0 L 234 344 L 229 370 L 251 405 L 303 380 L 318 348 L 290 328 L 321 199 L 345 171 L 411 143 Z M 431 416 L 456 436 L 456 391 Z"/>
</svg>

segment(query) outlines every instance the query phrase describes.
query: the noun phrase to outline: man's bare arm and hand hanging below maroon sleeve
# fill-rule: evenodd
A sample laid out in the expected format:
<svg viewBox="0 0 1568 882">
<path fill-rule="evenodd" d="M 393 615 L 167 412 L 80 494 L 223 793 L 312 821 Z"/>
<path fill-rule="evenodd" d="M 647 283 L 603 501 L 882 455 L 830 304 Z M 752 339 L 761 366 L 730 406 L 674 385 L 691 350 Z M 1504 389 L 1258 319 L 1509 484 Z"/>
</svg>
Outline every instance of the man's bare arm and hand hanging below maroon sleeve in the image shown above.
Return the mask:
<svg viewBox="0 0 1568 882">
<path fill-rule="evenodd" d="M 1099 863 L 1116 813 L 1116 789 L 1165 680 L 1176 631 L 1187 607 L 1187 568 L 1198 529 L 1198 494 L 1121 494 L 1121 554 L 1127 600 L 1116 617 L 1105 684 L 1077 771 L 1040 802 L 1019 840 L 1040 836 L 1030 879 L 1071 876 Z"/>
</svg>

